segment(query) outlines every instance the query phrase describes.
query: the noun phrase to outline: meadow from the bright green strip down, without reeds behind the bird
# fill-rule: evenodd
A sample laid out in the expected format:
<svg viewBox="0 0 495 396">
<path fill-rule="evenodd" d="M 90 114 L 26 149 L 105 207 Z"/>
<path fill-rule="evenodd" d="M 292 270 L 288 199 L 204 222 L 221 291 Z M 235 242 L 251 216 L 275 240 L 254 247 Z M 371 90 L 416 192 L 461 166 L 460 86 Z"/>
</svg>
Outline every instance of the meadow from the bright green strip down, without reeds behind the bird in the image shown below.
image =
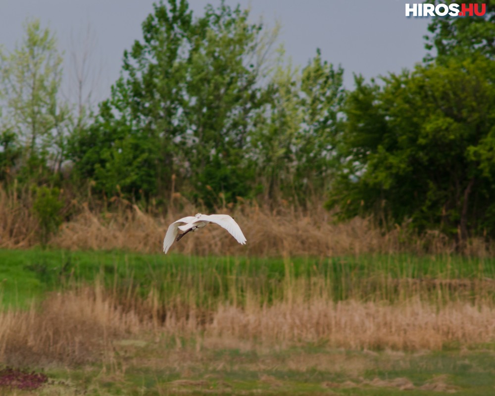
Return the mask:
<svg viewBox="0 0 495 396">
<path fill-rule="evenodd" d="M 487 395 L 495 259 L 1 249 L 7 395 Z M 3 394 L 3 393 L 2 393 Z"/>
</svg>

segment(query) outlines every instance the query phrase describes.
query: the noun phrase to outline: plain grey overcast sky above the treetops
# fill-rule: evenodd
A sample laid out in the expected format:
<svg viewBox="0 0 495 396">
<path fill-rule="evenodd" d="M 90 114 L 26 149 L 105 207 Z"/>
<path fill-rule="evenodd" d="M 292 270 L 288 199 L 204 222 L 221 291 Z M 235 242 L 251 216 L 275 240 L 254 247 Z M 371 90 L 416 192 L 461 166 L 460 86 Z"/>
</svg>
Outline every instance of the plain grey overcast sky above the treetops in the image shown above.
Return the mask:
<svg viewBox="0 0 495 396">
<path fill-rule="evenodd" d="M 141 23 L 154 0 L 2 0 L 0 44 L 11 50 L 23 35 L 26 18 L 39 18 L 59 41 L 65 57 L 81 52 L 88 26 L 93 32 L 91 65 L 98 72 L 94 99 L 109 95 L 119 76 L 124 49 L 141 40 Z M 353 73 L 366 79 L 412 68 L 425 55 L 423 36 L 430 18 L 406 18 L 402 0 L 226 0 L 251 7 L 253 20 L 282 25 L 279 42 L 294 65 L 304 66 L 317 48 L 324 59 L 345 70 L 352 88 Z M 420 1 L 418 1 L 420 2 Z M 194 14 L 218 0 L 190 0 Z M 72 38 L 72 39 L 71 39 Z M 69 69 L 69 63 L 66 64 Z"/>
</svg>

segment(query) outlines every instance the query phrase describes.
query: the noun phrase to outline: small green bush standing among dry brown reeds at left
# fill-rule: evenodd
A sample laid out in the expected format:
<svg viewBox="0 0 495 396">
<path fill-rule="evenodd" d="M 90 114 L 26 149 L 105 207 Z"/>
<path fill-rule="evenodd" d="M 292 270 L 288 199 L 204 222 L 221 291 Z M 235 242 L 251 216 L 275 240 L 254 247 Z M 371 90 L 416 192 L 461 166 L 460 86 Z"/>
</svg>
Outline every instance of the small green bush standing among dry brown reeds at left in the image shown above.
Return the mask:
<svg viewBox="0 0 495 396">
<path fill-rule="evenodd" d="M 63 202 L 60 200 L 60 190 L 56 187 L 48 188 L 45 186 L 36 188 L 36 198 L 33 202 L 33 211 L 38 217 L 41 228 L 41 243 L 46 246 L 50 235 L 56 233 L 62 216 L 60 214 L 63 208 Z"/>
</svg>

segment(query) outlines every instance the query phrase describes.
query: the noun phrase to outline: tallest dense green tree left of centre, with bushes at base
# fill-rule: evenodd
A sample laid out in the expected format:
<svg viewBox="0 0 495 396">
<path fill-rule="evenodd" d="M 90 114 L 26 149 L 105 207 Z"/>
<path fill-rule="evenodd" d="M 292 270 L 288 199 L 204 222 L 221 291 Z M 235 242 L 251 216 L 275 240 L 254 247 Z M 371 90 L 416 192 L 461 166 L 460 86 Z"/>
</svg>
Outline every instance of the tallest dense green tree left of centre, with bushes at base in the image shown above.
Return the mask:
<svg viewBox="0 0 495 396">
<path fill-rule="evenodd" d="M 247 194 L 243 148 L 266 100 L 261 28 L 223 2 L 198 18 L 185 0 L 155 4 L 143 40 L 124 52 L 111 98 L 71 142 L 77 173 L 109 194 L 117 185 L 130 195 L 164 194 L 173 174 L 210 204 L 211 191 Z M 212 180 L 220 169 L 224 177 Z"/>
</svg>

